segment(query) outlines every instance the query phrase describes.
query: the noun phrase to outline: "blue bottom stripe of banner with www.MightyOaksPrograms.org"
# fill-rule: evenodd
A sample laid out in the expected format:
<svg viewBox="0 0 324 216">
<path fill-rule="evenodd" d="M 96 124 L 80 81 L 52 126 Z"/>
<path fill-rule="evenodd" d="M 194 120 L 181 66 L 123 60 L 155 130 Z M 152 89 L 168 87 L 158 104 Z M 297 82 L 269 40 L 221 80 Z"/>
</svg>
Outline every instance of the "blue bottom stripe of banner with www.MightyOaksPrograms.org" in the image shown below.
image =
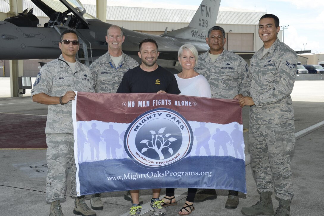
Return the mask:
<svg viewBox="0 0 324 216">
<path fill-rule="evenodd" d="M 245 162 L 231 156 L 192 156 L 160 169 L 141 168 L 131 159 L 79 164 L 83 195 L 149 188 L 215 188 L 246 193 Z M 96 176 L 88 178 L 88 176 Z M 171 184 L 170 184 L 171 182 Z M 102 191 L 105 188 L 106 191 Z"/>
</svg>

